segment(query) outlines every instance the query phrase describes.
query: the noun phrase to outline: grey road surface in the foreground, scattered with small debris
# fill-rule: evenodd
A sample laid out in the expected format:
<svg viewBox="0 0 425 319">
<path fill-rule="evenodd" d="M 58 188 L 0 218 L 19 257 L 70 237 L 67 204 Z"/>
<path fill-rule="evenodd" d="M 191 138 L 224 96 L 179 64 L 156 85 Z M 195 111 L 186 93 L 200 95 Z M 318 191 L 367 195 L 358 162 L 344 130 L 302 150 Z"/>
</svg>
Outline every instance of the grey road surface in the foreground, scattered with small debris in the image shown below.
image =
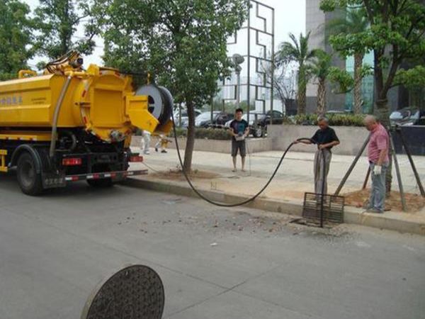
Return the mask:
<svg viewBox="0 0 425 319">
<path fill-rule="evenodd" d="M 0 318 L 79 318 L 129 263 L 162 277 L 164 318 L 425 318 L 424 237 L 289 221 L 125 186 L 31 198 L 1 176 Z"/>
</svg>

